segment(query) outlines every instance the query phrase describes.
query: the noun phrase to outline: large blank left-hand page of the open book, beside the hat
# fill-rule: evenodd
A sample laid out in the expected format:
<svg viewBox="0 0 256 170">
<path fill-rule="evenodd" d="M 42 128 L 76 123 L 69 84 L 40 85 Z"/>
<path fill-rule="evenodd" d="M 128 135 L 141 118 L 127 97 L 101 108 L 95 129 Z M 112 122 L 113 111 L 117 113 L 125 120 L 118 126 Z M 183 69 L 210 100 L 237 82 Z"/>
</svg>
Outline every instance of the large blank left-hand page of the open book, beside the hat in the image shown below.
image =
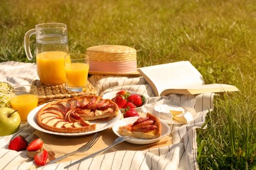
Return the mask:
<svg viewBox="0 0 256 170">
<path fill-rule="evenodd" d="M 189 61 L 142 67 L 138 71 L 156 95 L 165 89 L 187 89 L 204 84 L 203 76 Z"/>
</svg>

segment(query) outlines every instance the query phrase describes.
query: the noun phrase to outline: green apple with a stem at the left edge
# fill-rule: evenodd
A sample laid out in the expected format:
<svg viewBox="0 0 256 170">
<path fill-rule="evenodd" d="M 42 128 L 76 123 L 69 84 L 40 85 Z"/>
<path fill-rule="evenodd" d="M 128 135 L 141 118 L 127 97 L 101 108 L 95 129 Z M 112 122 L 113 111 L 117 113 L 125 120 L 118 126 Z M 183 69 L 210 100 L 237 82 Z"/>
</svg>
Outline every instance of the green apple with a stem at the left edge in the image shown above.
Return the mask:
<svg viewBox="0 0 256 170">
<path fill-rule="evenodd" d="M 11 135 L 20 128 L 20 114 L 9 107 L 0 108 L 0 136 Z"/>
</svg>

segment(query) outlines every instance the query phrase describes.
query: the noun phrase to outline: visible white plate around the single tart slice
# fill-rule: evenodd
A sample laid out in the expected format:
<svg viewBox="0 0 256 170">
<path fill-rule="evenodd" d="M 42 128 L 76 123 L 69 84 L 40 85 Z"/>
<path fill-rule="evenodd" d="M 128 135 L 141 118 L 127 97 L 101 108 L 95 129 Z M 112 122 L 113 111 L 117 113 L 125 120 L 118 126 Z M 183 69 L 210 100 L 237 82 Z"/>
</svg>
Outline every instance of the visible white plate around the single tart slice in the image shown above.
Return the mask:
<svg viewBox="0 0 256 170">
<path fill-rule="evenodd" d="M 127 124 L 133 124 L 133 122 L 135 122 L 138 118 L 139 118 L 139 116 L 123 118 L 123 119 L 119 120 L 112 127 L 112 130 L 114 131 L 114 133 L 116 133 L 117 136 L 121 137 L 121 135 L 118 133 L 119 126 L 125 126 Z M 161 137 L 158 137 L 156 139 L 139 139 L 139 138 L 131 137 L 131 139 L 128 139 L 127 142 L 128 143 L 134 143 L 134 144 L 156 143 L 157 141 L 160 141 L 161 138 L 165 137 L 166 135 L 169 135 L 169 133 L 170 133 L 170 127 L 165 122 L 161 121 L 161 127 L 162 127 Z"/>
</svg>

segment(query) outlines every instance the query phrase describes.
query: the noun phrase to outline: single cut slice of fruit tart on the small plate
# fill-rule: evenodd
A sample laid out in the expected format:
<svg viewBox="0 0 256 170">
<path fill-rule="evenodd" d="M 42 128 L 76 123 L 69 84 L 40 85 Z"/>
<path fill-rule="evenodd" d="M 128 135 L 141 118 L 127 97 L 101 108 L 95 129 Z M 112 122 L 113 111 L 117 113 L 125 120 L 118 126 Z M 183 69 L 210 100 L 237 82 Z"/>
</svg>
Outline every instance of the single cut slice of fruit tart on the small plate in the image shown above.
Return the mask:
<svg viewBox="0 0 256 170">
<path fill-rule="evenodd" d="M 120 126 L 119 134 L 142 139 L 154 139 L 161 136 L 161 122 L 158 117 L 147 113 L 146 117 L 138 118 L 133 124 Z"/>
</svg>

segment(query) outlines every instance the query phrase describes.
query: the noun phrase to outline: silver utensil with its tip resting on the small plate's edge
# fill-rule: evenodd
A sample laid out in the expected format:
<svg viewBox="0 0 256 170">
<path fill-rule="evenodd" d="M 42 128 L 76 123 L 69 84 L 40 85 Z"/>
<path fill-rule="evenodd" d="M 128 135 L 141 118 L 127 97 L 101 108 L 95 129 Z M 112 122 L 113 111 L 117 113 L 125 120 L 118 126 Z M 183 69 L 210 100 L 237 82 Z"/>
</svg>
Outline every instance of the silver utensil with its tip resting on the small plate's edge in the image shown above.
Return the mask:
<svg viewBox="0 0 256 170">
<path fill-rule="evenodd" d="M 70 165 L 67 165 L 66 167 L 64 167 L 64 169 L 66 169 L 66 168 L 68 168 L 68 167 L 71 167 L 71 166 L 73 166 L 73 165 L 75 165 L 75 164 L 77 164 L 77 163 L 80 163 L 81 161 L 87 160 L 88 158 L 91 158 L 91 157 L 93 157 L 93 156 L 96 156 L 96 155 L 99 154 L 100 152 L 103 152 L 103 151 L 105 151 L 105 150 L 108 150 L 108 149 L 112 148 L 113 146 L 115 146 L 116 144 L 122 143 L 123 141 L 127 141 L 127 139 L 129 139 L 129 137 L 126 137 L 126 136 L 118 137 L 118 138 L 114 141 L 114 143 L 112 143 L 110 146 L 108 146 L 108 147 L 106 147 L 106 148 L 104 148 L 104 149 L 102 149 L 102 150 L 99 150 L 98 152 L 95 152 L 95 153 L 93 153 L 93 154 L 91 154 L 91 155 L 89 155 L 89 156 L 85 156 L 84 158 L 81 158 L 81 160 L 75 161 L 75 162 L 71 163 Z"/>
</svg>

